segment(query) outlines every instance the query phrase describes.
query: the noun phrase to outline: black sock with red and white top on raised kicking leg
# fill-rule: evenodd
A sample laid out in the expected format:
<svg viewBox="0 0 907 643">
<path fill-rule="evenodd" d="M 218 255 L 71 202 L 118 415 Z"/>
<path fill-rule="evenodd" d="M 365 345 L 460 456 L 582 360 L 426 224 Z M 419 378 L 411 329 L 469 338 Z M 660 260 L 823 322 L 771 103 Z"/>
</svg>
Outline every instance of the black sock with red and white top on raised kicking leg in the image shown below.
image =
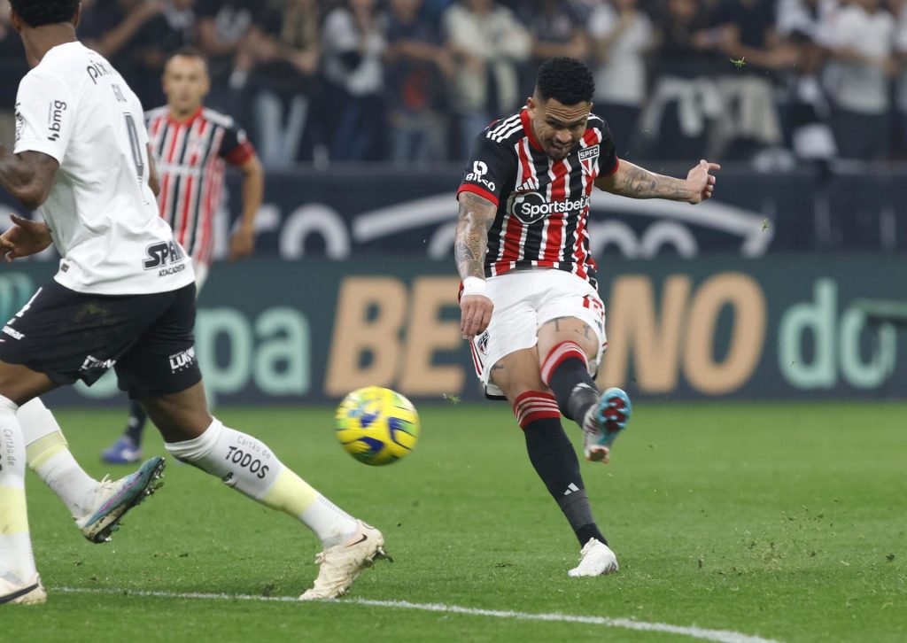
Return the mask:
<svg viewBox="0 0 907 643">
<path fill-rule="evenodd" d="M 541 381 L 554 393 L 564 417 L 582 425 L 590 407 L 599 401 L 599 388 L 589 375 L 589 361 L 580 345 L 561 342 L 541 365 Z"/>
</svg>

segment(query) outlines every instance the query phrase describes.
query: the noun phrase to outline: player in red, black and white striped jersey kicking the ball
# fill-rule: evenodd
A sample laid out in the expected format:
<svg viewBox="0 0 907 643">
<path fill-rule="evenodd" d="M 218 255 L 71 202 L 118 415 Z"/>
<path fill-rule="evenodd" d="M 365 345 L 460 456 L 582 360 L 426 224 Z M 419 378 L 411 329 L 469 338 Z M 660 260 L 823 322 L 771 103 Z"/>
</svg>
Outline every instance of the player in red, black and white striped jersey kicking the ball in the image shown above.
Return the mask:
<svg viewBox="0 0 907 643">
<path fill-rule="evenodd" d="M 618 560 L 592 518 L 561 414 L 580 425 L 586 459 L 600 463 L 630 414 L 626 393 L 600 393 L 593 379 L 607 341 L 589 254 L 592 187 L 698 203 L 720 169 L 700 161 L 680 180 L 619 161 L 608 124 L 591 113 L 594 91 L 584 63 L 541 64 L 526 106 L 475 142 L 454 248 L 461 330 L 486 395 L 512 404 L 532 466 L 580 541 L 570 576 L 617 571 Z"/>
</svg>

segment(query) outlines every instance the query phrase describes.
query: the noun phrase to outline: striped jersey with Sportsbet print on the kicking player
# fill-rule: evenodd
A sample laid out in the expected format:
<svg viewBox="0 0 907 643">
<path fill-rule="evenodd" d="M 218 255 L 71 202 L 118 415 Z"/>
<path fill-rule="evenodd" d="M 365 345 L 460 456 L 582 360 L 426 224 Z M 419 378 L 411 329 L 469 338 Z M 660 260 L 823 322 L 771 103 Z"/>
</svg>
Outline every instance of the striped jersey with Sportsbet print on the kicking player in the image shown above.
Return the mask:
<svg viewBox="0 0 907 643">
<path fill-rule="evenodd" d="M 485 277 L 514 268 L 557 268 L 596 286 L 587 229 L 592 186 L 618 165 L 608 123 L 594 114 L 562 161 L 541 151 L 526 108 L 489 125 L 475 141 L 457 191 L 498 207 L 488 232 Z"/>
</svg>

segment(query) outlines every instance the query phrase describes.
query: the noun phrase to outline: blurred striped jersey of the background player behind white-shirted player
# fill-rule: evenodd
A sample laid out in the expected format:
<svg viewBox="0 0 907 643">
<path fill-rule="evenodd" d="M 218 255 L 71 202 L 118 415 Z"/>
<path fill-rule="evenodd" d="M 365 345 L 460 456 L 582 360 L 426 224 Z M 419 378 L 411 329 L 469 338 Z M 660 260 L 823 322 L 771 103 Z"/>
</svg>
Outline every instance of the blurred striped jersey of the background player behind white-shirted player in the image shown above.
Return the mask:
<svg viewBox="0 0 907 643">
<path fill-rule="evenodd" d="M 182 122 L 159 107 L 146 112 L 145 122 L 161 175 L 161 217 L 192 260 L 208 265 L 226 164 L 242 165 L 255 150 L 232 118 L 204 107 Z"/>
</svg>

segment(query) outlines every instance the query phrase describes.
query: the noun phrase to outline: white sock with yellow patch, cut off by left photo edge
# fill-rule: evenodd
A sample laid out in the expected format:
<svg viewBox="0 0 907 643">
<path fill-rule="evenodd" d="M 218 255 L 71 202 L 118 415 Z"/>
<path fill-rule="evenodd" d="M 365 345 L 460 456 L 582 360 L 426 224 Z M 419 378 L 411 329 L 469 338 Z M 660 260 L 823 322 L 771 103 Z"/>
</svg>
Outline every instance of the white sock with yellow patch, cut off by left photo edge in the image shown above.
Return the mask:
<svg viewBox="0 0 907 643">
<path fill-rule="evenodd" d="M 24 585 L 38 572 L 25 505 L 25 441 L 16 410 L 0 395 L 0 578 Z"/>
</svg>

